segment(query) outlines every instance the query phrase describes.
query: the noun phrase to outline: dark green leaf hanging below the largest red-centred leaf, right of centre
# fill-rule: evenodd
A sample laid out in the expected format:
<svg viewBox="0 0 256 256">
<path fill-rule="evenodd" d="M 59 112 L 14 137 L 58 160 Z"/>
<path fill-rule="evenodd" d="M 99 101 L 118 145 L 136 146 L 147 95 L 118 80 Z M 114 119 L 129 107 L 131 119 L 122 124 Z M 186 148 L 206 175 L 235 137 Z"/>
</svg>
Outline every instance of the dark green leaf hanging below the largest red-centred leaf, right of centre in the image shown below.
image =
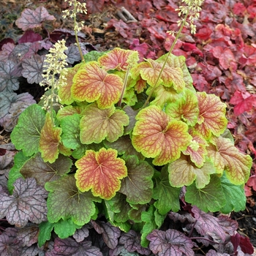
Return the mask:
<svg viewBox="0 0 256 256">
<path fill-rule="evenodd" d="M 163 167 L 159 178 L 156 178 L 153 198 L 157 200 L 154 206 L 159 214 L 165 215 L 168 211 L 178 211 L 180 209 L 179 195 L 181 189 L 171 187 L 167 167 Z"/>
</svg>

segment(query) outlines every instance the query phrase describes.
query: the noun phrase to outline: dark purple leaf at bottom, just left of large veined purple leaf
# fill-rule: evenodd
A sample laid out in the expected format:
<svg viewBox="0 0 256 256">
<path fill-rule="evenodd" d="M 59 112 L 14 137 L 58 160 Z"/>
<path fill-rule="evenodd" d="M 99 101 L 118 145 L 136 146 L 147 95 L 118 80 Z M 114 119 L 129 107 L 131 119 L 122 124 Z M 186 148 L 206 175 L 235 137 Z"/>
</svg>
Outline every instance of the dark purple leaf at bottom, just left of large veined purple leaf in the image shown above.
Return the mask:
<svg viewBox="0 0 256 256">
<path fill-rule="evenodd" d="M 140 245 L 140 236 L 134 230 L 129 230 L 128 233 L 124 233 L 119 239 L 120 244 L 124 244 L 124 248 L 128 252 L 139 252 L 141 255 L 150 255 L 151 250 L 143 248 Z"/>
</svg>

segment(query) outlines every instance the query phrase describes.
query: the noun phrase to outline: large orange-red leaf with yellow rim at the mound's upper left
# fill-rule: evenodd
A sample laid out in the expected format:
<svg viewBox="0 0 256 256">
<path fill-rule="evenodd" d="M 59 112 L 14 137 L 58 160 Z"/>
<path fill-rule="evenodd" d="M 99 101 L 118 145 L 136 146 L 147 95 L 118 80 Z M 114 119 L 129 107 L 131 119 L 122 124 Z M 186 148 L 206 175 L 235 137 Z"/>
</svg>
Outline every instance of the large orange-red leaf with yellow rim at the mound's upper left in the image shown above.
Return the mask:
<svg viewBox="0 0 256 256">
<path fill-rule="evenodd" d="M 110 108 L 117 103 L 123 88 L 123 80 L 101 69 L 96 61 L 79 69 L 73 79 L 72 97 L 82 102 L 97 101 L 99 108 Z"/>
</svg>

